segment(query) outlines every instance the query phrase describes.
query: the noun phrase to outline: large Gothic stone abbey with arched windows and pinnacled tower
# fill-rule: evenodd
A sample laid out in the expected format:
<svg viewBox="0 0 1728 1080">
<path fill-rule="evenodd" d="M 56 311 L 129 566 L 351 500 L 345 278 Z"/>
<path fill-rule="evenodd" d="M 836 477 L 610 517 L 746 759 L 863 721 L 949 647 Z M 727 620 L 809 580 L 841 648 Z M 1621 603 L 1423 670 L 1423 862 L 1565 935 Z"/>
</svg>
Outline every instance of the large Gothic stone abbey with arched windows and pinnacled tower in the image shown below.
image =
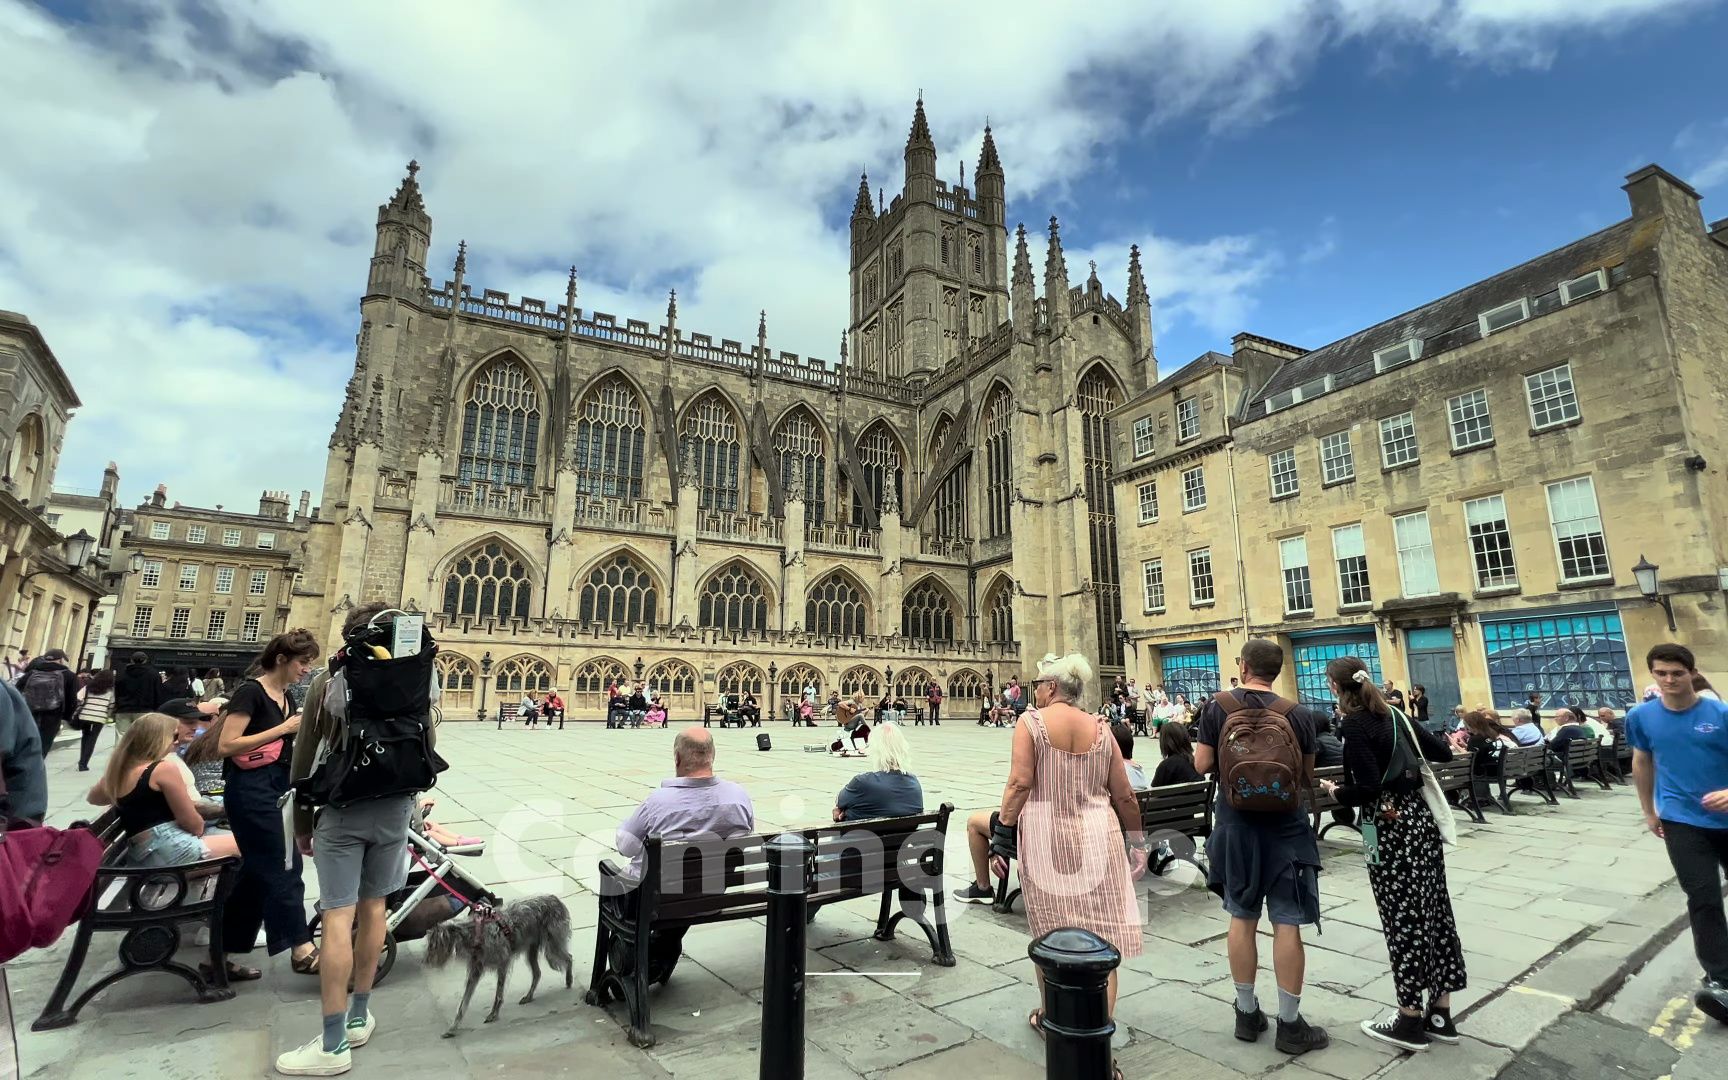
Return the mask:
<svg viewBox="0 0 1728 1080">
<path fill-rule="evenodd" d="M 1139 256 L 1127 304 L 1042 289 L 985 131 L 937 178 L 918 104 L 904 187 L 852 211 L 836 365 L 755 339 L 427 276 L 415 164 L 378 209 L 354 375 L 295 622 L 334 639 L 385 598 L 430 613 L 446 714 L 560 689 L 594 714 L 645 677 L 674 715 L 816 684 L 976 710 L 1028 658 L 1121 667 L 1109 415 L 1156 382 Z M 836 282 L 838 287 L 838 282 Z M 850 361 L 847 359 L 850 356 Z"/>
</svg>

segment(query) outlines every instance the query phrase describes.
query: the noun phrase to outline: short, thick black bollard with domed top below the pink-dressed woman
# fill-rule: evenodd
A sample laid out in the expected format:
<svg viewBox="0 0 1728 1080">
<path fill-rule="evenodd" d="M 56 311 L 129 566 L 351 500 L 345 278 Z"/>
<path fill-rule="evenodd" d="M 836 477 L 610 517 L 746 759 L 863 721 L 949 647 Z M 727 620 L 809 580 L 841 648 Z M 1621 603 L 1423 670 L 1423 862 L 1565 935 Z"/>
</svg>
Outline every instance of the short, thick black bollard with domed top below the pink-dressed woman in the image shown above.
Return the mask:
<svg viewBox="0 0 1728 1080">
<path fill-rule="evenodd" d="M 1063 926 L 1032 942 L 1026 956 L 1044 973 L 1044 1075 L 1108 1080 L 1116 1033 L 1108 987 L 1121 954 L 1090 930 Z"/>
</svg>

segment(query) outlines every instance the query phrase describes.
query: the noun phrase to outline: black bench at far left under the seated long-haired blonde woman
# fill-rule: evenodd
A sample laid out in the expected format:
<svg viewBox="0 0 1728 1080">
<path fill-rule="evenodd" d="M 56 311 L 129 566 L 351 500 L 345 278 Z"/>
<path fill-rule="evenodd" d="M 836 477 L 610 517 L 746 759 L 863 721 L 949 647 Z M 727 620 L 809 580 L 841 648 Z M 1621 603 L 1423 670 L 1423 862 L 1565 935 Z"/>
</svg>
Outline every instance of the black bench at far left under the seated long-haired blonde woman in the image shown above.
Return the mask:
<svg viewBox="0 0 1728 1080">
<path fill-rule="evenodd" d="M 121 866 L 130 843 L 121 835 L 119 814 L 109 810 L 95 824 L 85 828 L 93 831 L 105 847 L 95 885 L 92 885 L 90 911 L 78 921 L 78 933 L 73 937 L 73 949 L 66 957 L 60 980 L 54 983 L 48 1004 L 41 1007 L 41 1016 L 29 1028 L 48 1032 L 71 1026 L 78 1020 L 78 1013 L 97 994 L 126 976 L 149 971 L 164 971 L 187 980 L 199 1002 L 232 999 L 233 988 L 228 985 L 228 957 L 223 952 L 221 924 L 228 893 L 233 892 L 235 881 L 240 878 L 240 859 L 230 855 L 187 866 L 130 867 Z M 188 968 L 175 959 L 183 931 L 194 924 L 209 931 L 213 978 L 204 978 L 197 968 Z M 67 1006 L 66 999 L 78 985 L 85 957 L 90 954 L 90 938 L 97 931 L 124 935 L 119 940 L 119 969 L 90 983 Z"/>
</svg>

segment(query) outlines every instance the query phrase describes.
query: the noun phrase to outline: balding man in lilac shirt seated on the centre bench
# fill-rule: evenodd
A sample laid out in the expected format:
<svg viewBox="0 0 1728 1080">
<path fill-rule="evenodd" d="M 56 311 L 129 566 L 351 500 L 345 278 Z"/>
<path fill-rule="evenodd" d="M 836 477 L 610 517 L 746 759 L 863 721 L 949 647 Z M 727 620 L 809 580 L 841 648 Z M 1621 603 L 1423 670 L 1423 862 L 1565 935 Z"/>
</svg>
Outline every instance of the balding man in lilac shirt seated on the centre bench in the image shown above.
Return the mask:
<svg viewBox="0 0 1728 1080">
<path fill-rule="evenodd" d="M 755 807 L 743 785 L 714 774 L 714 740 L 702 727 L 686 727 L 672 741 L 677 776 L 660 781 L 643 805 L 619 826 L 617 847 L 631 857 L 626 876 L 643 873 L 643 842 L 748 836 L 755 831 Z M 664 888 L 664 885 L 662 885 Z"/>
</svg>

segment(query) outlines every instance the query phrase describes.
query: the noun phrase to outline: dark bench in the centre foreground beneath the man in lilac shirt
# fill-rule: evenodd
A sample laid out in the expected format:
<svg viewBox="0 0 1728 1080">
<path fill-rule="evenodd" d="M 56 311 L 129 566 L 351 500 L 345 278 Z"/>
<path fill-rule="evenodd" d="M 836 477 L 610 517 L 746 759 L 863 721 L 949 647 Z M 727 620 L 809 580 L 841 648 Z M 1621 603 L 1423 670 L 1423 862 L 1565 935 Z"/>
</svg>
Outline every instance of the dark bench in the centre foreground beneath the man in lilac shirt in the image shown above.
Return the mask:
<svg viewBox="0 0 1728 1080">
<path fill-rule="evenodd" d="M 880 893 L 881 911 L 871 937 L 893 940 L 900 919 L 911 919 L 930 940 L 931 959 L 952 968 L 942 888 L 952 812 L 952 805 L 942 804 L 935 814 L 798 829 L 812 850 L 805 866 L 810 916 L 828 904 Z M 655 1044 L 648 988 L 665 985 L 677 966 L 679 952 L 655 935 L 766 914 L 769 862 L 762 845 L 767 840 L 764 835 L 669 842 L 650 836 L 643 845 L 639 885 L 610 859 L 600 862 L 600 923 L 584 1001 L 591 1006 L 624 1001 L 631 1045 Z M 683 883 L 691 888 L 681 888 Z M 895 900 L 899 912 L 892 912 Z M 935 905 L 935 919 L 924 916 L 926 905 Z"/>
</svg>

